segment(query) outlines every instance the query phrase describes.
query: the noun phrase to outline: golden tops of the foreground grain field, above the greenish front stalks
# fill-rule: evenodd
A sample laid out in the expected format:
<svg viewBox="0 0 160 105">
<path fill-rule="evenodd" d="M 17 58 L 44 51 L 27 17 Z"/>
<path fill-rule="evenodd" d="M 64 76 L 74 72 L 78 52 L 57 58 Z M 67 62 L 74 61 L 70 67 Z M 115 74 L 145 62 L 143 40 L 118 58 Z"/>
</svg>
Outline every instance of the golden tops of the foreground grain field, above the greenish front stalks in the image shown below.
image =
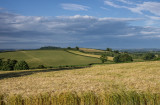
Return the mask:
<svg viewBox="0 0 160 105">
<path fill-rule="evenodd" d="M 17 77 L 14 77 L 18 73 Z M 3 76 L 7 74 L 7 77 Z M 160 61 L 96 65 L 73 70 L 1 71 L 0 93 L 160 92 Z"/>
</svg>

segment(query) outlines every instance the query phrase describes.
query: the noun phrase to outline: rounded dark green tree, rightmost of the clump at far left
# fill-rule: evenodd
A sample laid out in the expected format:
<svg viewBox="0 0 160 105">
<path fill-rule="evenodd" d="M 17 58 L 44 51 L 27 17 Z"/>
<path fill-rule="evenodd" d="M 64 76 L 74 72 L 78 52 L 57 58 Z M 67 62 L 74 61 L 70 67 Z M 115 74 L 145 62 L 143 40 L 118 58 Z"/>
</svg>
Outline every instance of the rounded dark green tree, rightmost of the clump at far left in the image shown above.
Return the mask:
<svg viewBox="0 0 160 105">
<path fill-rule="evenodd" d="M 19 61 L 16 63 L 14 70 L 28 70 L 29 66 L 25 61 Z"/>
</svg>

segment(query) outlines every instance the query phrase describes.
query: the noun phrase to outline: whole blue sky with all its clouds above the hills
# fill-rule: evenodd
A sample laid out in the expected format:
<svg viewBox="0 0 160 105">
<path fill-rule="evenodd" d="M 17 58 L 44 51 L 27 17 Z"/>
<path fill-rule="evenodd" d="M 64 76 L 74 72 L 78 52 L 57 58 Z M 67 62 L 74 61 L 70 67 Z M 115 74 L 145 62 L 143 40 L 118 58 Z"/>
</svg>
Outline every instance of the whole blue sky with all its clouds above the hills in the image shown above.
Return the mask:
<svg viewBox="0 0 160 105">
<path fill-rule="evenodd" d="M 0 0 L 0 49 L 160 48 L 159 0 Z"/>
</svg>

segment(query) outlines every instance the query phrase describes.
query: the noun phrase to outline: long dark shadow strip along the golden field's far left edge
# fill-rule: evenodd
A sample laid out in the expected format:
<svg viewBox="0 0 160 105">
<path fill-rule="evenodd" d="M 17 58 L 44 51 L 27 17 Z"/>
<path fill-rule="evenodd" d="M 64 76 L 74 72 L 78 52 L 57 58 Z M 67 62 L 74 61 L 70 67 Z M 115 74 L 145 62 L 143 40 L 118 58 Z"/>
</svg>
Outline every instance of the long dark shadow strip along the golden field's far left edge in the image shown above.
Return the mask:
<svg viewBox="0 0 160 105">
<path fill-rule="evenodd" d="M 89 66 L 90 67 L 90 66 Z M 9 73 L 3 73 L 0 74 L 0 80 L 5 78 L 13 78 L 13 77 L 22 77 L 27 76 L 35 73 L 41 73 L 41 72 L 52 72 L 52 71 L 61 71 L 61 70 L 72 70 L 72 69 L 82 69 L 86 67 L 76 67 L 76 68 L 59 68 L 59 69 L 46 69 L 46 70 L 29 70 L 29 71 L 17 71 L 17 72 L 9 72 Z"/>
</svg>

